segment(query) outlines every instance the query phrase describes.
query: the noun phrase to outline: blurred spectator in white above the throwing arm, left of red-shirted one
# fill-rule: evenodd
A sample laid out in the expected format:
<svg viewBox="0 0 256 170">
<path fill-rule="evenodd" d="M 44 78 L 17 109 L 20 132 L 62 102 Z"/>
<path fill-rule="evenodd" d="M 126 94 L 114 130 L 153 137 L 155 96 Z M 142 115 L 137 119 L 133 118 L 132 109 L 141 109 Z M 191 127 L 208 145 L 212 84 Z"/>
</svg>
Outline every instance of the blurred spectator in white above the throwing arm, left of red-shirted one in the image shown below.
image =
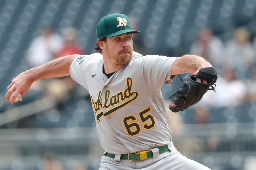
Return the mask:
<svg viewBox="0 0 256 170">
<path fill-rule="evenodd" d="M 27 59 L 30 67 L 36 67 L 54 59 L 63 47 L 60 35 L 54 33 L 51 27 L 45 27 L 42 35 L 36 37 L 30 44 Z"/>
</svg>

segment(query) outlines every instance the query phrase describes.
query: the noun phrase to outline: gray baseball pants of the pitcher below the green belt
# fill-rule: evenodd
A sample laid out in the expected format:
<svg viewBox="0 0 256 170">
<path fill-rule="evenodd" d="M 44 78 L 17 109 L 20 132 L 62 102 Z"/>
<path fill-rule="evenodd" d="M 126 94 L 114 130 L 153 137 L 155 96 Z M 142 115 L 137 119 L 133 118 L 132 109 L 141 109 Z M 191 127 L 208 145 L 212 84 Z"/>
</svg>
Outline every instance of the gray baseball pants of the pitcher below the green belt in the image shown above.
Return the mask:
<svg viewBox="0 0 256 170">
<path fill-rule="evenodd" d="M 101 158 L 100 170 L 210 170 L 208 167 L 181 155 L 171 142 L 170 151 L 143 161 L 112 159 L 105 155 Z M 154 158 L 155 157 L 155 158 Z"/>
</svg>

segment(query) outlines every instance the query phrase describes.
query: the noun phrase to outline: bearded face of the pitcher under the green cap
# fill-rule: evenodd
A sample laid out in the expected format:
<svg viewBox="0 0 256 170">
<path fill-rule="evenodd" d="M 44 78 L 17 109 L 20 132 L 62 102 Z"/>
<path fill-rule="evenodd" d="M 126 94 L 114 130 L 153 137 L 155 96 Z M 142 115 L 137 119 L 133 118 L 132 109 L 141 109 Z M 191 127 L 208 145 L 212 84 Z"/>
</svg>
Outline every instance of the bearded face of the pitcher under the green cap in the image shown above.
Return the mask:
<svg viewBox="0 0 256 170">
<path fill-rule="evenodd" d="M 102 55 L 116 65 L 124 65 L 131 61 L 133 52 L 132 34 L 125 33 L 115 37 L 107 37 L 102 48 Z"/>
</svg>

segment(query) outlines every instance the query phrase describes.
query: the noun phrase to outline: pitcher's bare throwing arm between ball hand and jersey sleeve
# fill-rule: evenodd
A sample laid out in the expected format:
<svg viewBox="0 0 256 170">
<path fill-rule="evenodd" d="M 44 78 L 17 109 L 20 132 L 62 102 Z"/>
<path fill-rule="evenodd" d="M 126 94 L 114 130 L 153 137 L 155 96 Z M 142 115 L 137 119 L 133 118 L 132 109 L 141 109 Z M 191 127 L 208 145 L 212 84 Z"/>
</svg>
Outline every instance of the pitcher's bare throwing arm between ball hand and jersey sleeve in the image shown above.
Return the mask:
<svg viewBox="0 0 256 170">
<path fill-rule="evenodd" d="M 79 55 L 67 55 L 64 57 L 52 60 L 44 65 L 31 68 L 25 71 L 26 74 L 31 76 L 33 81 L 50 78 L 50 77 L 63 77 L 70 75 L 69 68 L 72 61 Z"/>
</svg>

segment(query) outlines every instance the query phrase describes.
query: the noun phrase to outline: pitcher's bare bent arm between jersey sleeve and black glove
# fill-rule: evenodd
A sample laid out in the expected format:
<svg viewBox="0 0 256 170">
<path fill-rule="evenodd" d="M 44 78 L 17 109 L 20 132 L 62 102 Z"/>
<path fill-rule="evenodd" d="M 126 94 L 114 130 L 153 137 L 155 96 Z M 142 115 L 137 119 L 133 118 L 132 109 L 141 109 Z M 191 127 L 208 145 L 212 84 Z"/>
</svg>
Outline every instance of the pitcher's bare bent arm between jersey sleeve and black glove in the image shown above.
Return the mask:
<svg viewBox="0 0 256 170">
<path fill-rule="evenodd" d="M 186 54 L 176 59 L 172 67 L 172 75 L 176 75 L 194 73 L 196 70 L 204 67 L 212 67 L 212 65 L 202 57 Z"/>
</svg>

